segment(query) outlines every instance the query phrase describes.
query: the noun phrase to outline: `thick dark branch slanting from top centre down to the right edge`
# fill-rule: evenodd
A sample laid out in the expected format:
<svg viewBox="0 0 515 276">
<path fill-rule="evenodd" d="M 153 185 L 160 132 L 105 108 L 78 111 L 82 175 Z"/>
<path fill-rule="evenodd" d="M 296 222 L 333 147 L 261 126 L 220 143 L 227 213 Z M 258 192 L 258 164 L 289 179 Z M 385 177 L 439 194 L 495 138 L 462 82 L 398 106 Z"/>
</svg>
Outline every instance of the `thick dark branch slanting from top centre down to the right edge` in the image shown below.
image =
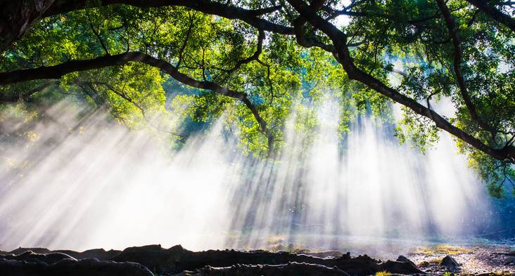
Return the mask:
<svg viewBox="0 0 515 276">
<path fill-rule="evenodd" d="M 319 15 L 314 13 L 303 1 L 288 0 L 288 2 L 295 8 L 295 10 L 298 11 L 298 13 L 300 13 L 300 15 L 305 17 L 308 22 L 324 32 L 331 39 L 331 41 L 333 41 L 333 44 L 336 48 L 336 52 L 333 54 L 335 55 L 336 60 L 341 63 L 343 69 L 345 72 L 347 72 L 350 79 L 360 81 L 362 84 L 369 86 L 369 88 L 372 88 L 375 91 L 381 93 L 383 96 L 394 100 L 396 103 L 405 105 L 415 113 L 431 119 L 440 129 L 443 129 L 453 136 L 464 140 L 466 143 L 469 143 L 469 145 L 472 145 L 485 154 L 490 155 L 490 157 L 500 160 L 508 159 L 509 162 L 515 164 L 515 147 L 509 146 L 503 147 L 502 149 L 494 149 L 489 147 L 488 145 L 485 145 L 483 142 L 481 142 L 481 140 L 478 140 L 477 138 L 471 136 L 469 133 L 466 133 L 462 129 L 459 129 L 456 126 L 450 124 L 450 122 L 441 117 L 440 114 L 428 109 L 420 103 L 417 103 L 416 100 L 403 95 L 395 89 L 386 86 L 386 84 L 383 84 L 381 81 L 379 81 L 379 79 L 372 77 L 370 74 L 363 72 L 358 67 L 356 67 L 352 57 L 350 56 L 349 48 L 346 45 L 347 35 L 344 32 L 341 32 L 329 21 L 324 20 L 324 18 L 321 18 Z"/>
</svg>

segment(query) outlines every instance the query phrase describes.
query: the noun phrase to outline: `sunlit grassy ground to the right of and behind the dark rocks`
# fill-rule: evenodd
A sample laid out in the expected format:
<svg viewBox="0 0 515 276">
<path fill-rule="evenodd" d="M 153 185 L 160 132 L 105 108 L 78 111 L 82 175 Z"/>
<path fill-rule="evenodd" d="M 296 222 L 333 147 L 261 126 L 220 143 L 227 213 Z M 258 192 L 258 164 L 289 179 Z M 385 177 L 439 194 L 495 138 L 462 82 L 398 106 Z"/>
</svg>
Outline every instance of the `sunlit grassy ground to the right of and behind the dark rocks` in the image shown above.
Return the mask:
<svg viewBox="0 0 515 276">
<path fill-rule="evenodd" d="M 330 244 L 326 243 L 331 239 Z M 348 252 L 353 256 L 367 254 L 381 260 L 396 260 L 406 256 L 417 267 L 428 274 L 481 275 L 484 273 L 507 273 L 515 275 L 515 241 L 499 242 L 488 239 L 374 239 L 370 237 L 324 237 L 313 239 L 301 236 L 288 243 L 284 237 L 269 237 L 262 241 L 267 251 L 290 251 L 312 256 L 341 256 Z M 319 246 L 320 244 L 324 244 Z M 311 248 L 312 250 L 306 250 Z M 314 249 L 318 248 L 318 249 Z M 459 264 L 449 269 L 439 265 L 445 256 L 451 256 Z"/>
</svg>

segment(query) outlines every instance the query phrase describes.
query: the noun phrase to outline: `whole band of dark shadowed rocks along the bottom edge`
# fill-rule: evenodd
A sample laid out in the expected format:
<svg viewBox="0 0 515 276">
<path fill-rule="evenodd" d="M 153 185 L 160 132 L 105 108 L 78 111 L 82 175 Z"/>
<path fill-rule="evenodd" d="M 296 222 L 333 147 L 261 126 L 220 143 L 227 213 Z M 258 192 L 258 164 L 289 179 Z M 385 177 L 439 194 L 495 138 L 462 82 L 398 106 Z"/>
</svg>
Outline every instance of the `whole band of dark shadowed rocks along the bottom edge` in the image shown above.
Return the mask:
<svg viewBox="0 0 515 276">
<path fill-rule="evenodd" d="M 37 252 L 34 252 L 37 251 Z M 124 251 L 94 249 L 84 252 L 16 249 L 0 256 L 0 275 L 374 275 L 423 274 L 409 261 L 380 261 L 367 255 L 352 258 L 349 253 L 319 258 L 306 254 L 269 251 L 189 251 L 180 245 L 129 247 Z M 13 254 L 18 253 L 18 255 Z M 94 258 L 94 259 L 85 259 Z M 98 258 L 109 261 L 98 261 Z M 77 261 L 84 259 L 82 261 Z M 148 269 L 147 269 L 148 268 Z M 19 270 L 19 273 L 12 273 Z M 75 273 L 75 270 L 82 271 Z M 150 271 L 149 271 L 150 270 Z M 36 274 L 30 274 L 39 272 Z M 106 271 L 109 271 L 108 274 Z M 261 271 L 261 272 L 259 272 Z M 10 273 L 6 273 L 10 272 Z M 102 272 L 104 274 L 98 274 Z M 46 274 L 45 274 L 46 273 Z M 59 274 L 61 273 L 61 274 Z M 88 274 L 89 273 L 89 274 Z M 188 274 L 189 273 L 189 274 Z M 261 273 L 261 274 L 260 274 Z"/>
</svg>

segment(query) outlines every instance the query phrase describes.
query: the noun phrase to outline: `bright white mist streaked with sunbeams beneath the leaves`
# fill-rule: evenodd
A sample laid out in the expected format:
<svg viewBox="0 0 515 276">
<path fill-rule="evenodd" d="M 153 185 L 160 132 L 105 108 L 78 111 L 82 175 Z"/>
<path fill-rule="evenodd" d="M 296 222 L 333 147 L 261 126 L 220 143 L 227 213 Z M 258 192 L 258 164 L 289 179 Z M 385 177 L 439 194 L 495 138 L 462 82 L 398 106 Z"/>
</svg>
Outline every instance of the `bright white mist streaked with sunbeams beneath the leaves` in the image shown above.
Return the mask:
<svg viewBox="0 0 515 276">
<path fill-rule="evenodd" d="M 179 148 L 66 101 L 29 129 L 3 121 L 0 249 L 379 250 L 495 228 L 487 192 L 450 136 L 422 155 L 371 116 L 343 137 L 336 105 L 316 109 L 313 143 L 304 146 L 293 108 L 274 160 L 243 156 L 224 116 Z"/>
</svg>

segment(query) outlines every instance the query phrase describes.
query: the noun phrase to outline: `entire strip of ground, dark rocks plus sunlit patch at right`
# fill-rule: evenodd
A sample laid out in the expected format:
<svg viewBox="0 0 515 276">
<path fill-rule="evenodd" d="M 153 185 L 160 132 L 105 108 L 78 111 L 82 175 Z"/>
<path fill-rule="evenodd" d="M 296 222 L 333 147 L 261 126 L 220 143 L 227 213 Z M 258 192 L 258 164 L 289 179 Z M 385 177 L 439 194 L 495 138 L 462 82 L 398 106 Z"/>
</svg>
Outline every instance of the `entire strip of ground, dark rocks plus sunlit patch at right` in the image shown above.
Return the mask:
<svg viewBox="0 0 515 276">
<path fill-rule="evenodd" d="M 515 275 L 506 246 L 417 248 L 395 261 L 338 251 L 189 251 L 181 246 L 129 247 L 83 252 L 48 249 L 0 251 L 0 275 Z"/>
</svg>

